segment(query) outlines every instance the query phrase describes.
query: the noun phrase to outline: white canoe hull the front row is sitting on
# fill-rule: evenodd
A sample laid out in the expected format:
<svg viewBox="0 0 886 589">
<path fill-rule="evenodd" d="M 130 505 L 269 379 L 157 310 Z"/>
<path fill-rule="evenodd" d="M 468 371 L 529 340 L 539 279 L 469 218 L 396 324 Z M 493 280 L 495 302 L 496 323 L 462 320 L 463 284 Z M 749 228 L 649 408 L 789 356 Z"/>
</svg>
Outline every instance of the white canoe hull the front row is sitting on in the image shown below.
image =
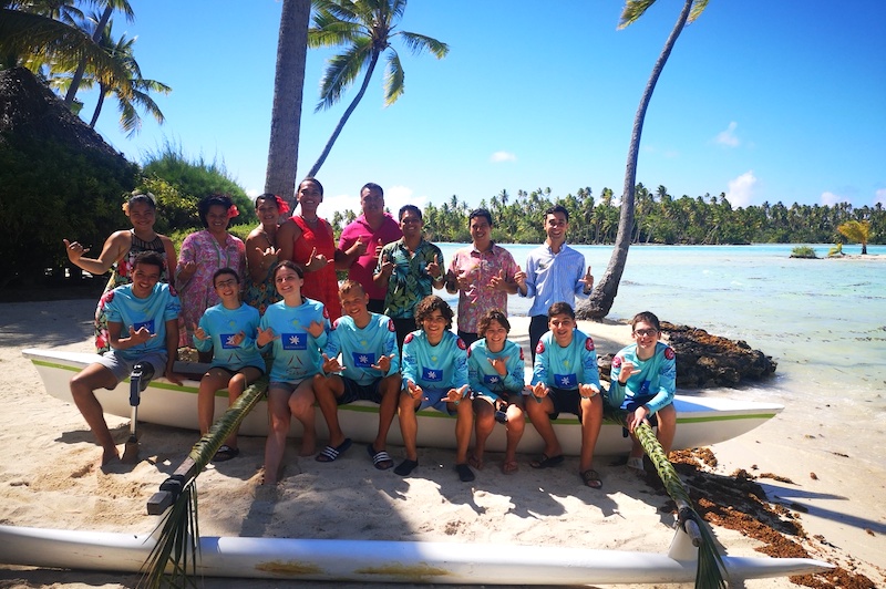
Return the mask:
<svg viewBox="0 0 886 589">
<path fill-rule="evenodd" d="M 62 401 L 72 403 L 69 381 L 76 372 L 94 362 L 99 356 L 81 352 L 63 352 L 54 350 L 23 350 L 22 354 L 33 362 L 47 392 Z M 182 366 L 184 369 L 184 366 Z M 168 425 L 186 430 L 198 430 L 197 424 L 197 381 L 187 380 L 184 385 L 173 384 L 165 379 L 151 382 L 142 393 L 138 406 L 138 420 L 145 423 Z M 109 415 L 128 417 L 130 406 L 128 382 L 122 382 L 113 391 L 95 392 L 104 412 Z M 218 418 L 227 409 L 227 392 L 216 395 L 215 415 Z M 717 397 L 696 397 L 677 395 L 677 436 L 673 450 L 692 448 L 717 444 L 738 437 L 775 416 L 784 407 L 774 403 L 759 403 Z M 378 433 L 378 405 L 369 402 L 357 402 L 339 406 L 339 422 L 342 431 L 354 442 L 369 443 Z M 560 445 L 567 455 L 578 455 L 581 431 L 574 415 L 560 415 L 554 422 L 554 428 Z M 455 418 L 434 410 L 419 413 L 419 446 L 455 447 Z M 265 436 L 268 432 L 267 403 L 259 402 L 256 409 L 245 417 L 240 434 Z M 317 411 L 317 433 L 320 438 L 328 435 L 326 421 Z M 290 435 L 299 437 L 301 426 L 292 420 Z M 391 426 L 388 440 L 391 444 L 402 443 L 398 420 Z M 496 426 L 486 443 L 486 450 L 504 452 L 505 427 Z M 542 438 L 534 427 L 526 427 L 519 443 L 524 453 L 537 453 L 544 447 Z M 628 442 L 622 437 L 618 425 L 605 424 L 597 442 L 595 454 L 618 455 L 627 452 Z"/>
</svg>

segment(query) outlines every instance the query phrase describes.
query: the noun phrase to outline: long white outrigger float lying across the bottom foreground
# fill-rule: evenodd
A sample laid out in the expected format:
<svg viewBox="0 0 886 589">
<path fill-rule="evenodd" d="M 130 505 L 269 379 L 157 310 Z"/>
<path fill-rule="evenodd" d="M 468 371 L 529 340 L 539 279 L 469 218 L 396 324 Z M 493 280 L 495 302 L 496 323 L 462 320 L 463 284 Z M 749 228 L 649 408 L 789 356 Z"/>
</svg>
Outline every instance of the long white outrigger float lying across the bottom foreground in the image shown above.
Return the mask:
<svg viewBox="0 0 886 589">
<path fill-rule="evenodd" d="M 154 541 L 145 535 L 0 526 L 0 562 L 135 572 Z M 681 546 L 672 546 L 669 556 L 508 545 L 206 537 L 200 539 L 197 575 L 384 583 L 691 582 L 694 549 L 682 533 L 674 544 Z M 723 557 L 723 561 L 733 581 L 833 568 L 802 558 Z"/>
</svg>

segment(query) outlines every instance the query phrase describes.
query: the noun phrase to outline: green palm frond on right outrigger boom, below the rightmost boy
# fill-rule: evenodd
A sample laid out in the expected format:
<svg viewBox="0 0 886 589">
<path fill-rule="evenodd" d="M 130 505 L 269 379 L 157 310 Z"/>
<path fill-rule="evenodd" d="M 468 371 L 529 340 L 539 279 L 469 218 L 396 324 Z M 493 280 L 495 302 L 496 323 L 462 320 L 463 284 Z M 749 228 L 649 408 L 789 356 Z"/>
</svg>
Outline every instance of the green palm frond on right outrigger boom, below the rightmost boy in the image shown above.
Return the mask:
<svg viewBox="0 0 886 589">
<path fill-rule="evenodd" d="M 627 427 L 627 412 L 625 410 L 607 409 L 605 420 Z M 686 529 L 687 521 L 694 521 L 701 534 L 698 569 L 696 571 L 696 589 L 725 589 L 728 572 L 723 559 L 720 557 L 720 551 L 717 549 L 711 528 L 708 527 L 708 523 L 692 507 L 692 499 L 689 497 L 689 493 L 680 480 L 677 471 L 673 469 L 670 459 L 668 459 L 668 455 L 664 454 L 664 448 L 658 443 L 656 433 L 646 423 L 636 427 L 633 433 L 637 435 L 637 440 L 640 441 L 643 452 L 656 466 L 656 472 L 664 485 L 664 490 L 677 504 L 680 525 Z"/>
</svg>

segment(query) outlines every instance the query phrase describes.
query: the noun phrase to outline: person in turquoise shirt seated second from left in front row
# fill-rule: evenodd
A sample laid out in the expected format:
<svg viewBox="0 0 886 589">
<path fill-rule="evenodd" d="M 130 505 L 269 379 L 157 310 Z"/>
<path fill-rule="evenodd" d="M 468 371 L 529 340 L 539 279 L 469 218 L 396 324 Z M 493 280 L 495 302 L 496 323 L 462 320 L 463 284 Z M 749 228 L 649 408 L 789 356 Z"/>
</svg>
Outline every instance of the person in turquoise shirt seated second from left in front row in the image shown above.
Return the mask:
<svg viewBox="0 0 886 589">
<path fill-rule="evenodd" d="M 265 360 L 256 347 L 258 310 L 240 302 L 240 278 L 236 270 L 222 268 L 213 275 L 213 289 L 220 303 L 206 309 L 194 327 L 194 347 L 213 351 L 213 363 L 200 379 L 197 391 L 197 418 L 200 435 L 213 425 L 215 393 L 228 390 L 228 406 L 247 386 L 265 373 Z M 235 458 L 240 453 L 235 430 L 213 457 L 214 462 Z"/>
</svg>

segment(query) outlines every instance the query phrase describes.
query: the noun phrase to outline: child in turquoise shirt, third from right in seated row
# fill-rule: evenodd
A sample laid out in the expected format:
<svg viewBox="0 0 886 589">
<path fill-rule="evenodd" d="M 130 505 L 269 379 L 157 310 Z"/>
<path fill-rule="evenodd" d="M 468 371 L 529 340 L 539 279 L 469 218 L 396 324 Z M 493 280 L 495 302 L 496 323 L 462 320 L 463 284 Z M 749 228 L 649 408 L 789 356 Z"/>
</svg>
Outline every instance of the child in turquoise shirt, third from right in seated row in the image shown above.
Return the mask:
<svg viewBox="0 0 886 589">
<path fill-rule="evenodd" d="M 495 421 L 504 420 L 507 447 L 502 472 L 517 471 L 517 444 L 523 437 L 526 418 L 523 415 L 524 361 L 523 348 L 507 339 L 511 323 L 497 310 L 487 311 L 477 322 L 482 338 L 467 350 L 467 381 L 474 392 L 476 445 L 468 458 L 474 468 L 483 468 L 483 452 Z"/>
</svg>

